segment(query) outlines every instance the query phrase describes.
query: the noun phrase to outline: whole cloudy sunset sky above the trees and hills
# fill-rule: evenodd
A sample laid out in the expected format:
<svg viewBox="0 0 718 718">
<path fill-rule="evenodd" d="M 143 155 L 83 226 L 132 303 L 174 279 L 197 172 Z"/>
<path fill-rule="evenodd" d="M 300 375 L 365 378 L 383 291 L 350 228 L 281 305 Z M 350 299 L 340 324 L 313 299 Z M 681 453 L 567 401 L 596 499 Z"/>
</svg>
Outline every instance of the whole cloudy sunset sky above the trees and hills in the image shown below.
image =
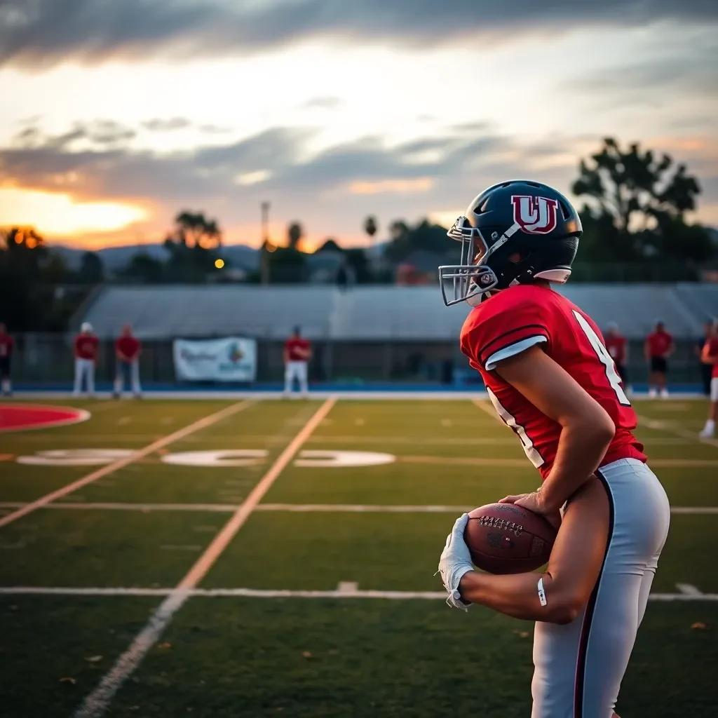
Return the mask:
<svg viewBox="0 0 718 718">
<path fill-rule="evenodd" d="M 604 136 L 686 162 L 718 225 L 714 0 L 4 0 L 0 225 L 96 248 L 177 210 L 259 243 L 569 191 Z"/>
</svg>

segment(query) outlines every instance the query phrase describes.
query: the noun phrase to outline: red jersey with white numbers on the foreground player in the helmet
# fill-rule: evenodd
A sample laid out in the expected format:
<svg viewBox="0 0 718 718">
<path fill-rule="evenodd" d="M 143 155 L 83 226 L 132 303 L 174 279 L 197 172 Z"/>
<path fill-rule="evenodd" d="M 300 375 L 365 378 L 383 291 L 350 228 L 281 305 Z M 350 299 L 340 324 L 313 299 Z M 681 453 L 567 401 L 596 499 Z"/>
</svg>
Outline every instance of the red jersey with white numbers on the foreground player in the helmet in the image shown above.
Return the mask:
<svg viewBox="0 0 718 718">
<path fill-rule="evenodd" d="M 479 370 L 499 416 L 518 434 L 523 450 L 544 479 L 556 459 L 561 424 L 536 409 L 495 372 L 502 359 L 540 344 L 607 411 L 616 426 L 601 465 L 618 459 L 645 461 L 633 436 L 635 412 L 593 320 L 545 286 L 503 289 L 472 310 L 461 330 L 461 350 Z"/>
</svg>

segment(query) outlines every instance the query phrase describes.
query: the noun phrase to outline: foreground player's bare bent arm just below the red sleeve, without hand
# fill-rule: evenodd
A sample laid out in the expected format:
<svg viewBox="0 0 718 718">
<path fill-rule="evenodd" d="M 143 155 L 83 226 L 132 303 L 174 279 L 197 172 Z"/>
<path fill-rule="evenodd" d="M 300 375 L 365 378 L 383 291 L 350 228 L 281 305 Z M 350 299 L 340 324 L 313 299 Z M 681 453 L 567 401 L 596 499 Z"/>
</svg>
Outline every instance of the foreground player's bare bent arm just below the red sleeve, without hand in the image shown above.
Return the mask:
<svg viewBox="0 0 718 718">
<path fill-rule="evenodd" d="M 538 346 L 501 361 L 496 372 L 536 409 L 561 424 L 556 460 L 536 497 L 540 503 L 527 507 L 555 514 L 600 466 L 615 425 L 605 409 Z"/>
</svg>

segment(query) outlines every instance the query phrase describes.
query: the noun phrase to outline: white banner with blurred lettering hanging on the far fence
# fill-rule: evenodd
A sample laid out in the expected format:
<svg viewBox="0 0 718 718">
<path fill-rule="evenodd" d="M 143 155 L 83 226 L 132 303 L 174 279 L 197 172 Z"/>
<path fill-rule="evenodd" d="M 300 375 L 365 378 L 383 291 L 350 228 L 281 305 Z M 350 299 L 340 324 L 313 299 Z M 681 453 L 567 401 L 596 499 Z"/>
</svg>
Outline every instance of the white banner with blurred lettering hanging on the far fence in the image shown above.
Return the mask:
<svg viewBox="0 0 718 718">
<path fill-rule="evenodd" d="M 174 371 L 180 381 L 254 381 L 257 342 L 238 337 L 176 339 Z"/>
</svg>

